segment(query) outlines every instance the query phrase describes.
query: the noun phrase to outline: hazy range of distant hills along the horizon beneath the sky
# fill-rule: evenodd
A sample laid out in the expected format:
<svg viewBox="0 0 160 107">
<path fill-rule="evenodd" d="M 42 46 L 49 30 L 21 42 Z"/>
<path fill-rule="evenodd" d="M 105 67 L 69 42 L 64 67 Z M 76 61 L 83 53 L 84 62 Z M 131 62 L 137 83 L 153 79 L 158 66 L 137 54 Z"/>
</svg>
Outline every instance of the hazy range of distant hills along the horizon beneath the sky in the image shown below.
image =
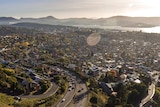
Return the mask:
<svg viewBox="0 0 160 107">
<path fill-rule="evenodd" d="M 109 18 L 67 18 L 58 19 L 53 16 L 42 18 L 20 18 L 0 17 L 0 24 L 14 23 L 38 23 L 49 25 L 100 25 L 100 26 L 122 26 L 122 27 L 154 27 L 160 26 L 160 17 L 128 17 L 128 16 L 113 16 Z"/>
</svg>

